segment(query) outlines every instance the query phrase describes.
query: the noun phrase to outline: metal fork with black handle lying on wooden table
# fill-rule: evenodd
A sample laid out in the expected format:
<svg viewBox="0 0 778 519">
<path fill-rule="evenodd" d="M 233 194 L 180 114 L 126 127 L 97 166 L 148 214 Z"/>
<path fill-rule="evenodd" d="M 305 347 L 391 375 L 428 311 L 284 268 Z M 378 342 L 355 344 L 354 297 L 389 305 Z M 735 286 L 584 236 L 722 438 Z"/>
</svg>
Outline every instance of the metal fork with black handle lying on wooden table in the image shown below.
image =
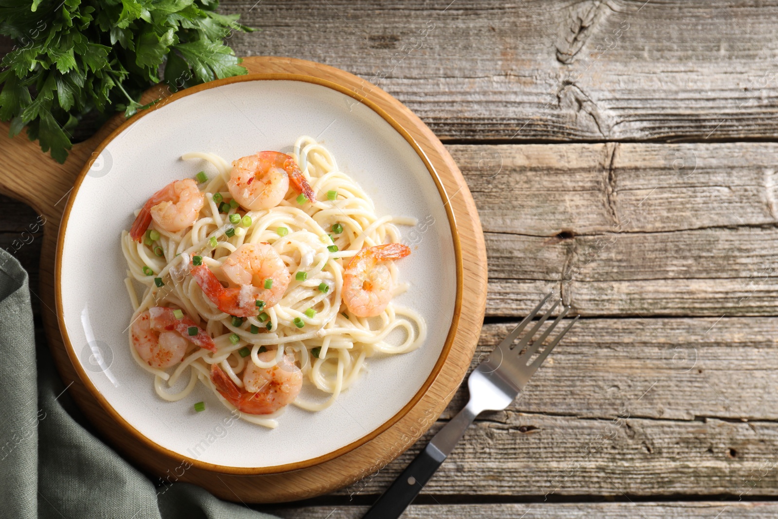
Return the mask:
<svg viewBox="0 0 778 519">
<path fill-rule="evenodd" d="M 527 380 L 538 370 L 554 346 L 559 343 L 559 340 L 565 336 L 570 328 L 573 328 L 573 324 L 578 320 L 579 316 L 576 316 L 533 359 L 543 341 L 548 338 L 548 335 L 570 310 L 569 307 L 562 310 L 542 335 L 527 347 L 531 338 L 559 306 L 560 301 L 557 300 L 527 335 L 524 335 L 519 343 L 513 346 L 513 342 L 516 341 L 521 331 L 527 328 L 527 324 L 534 319 L 551 296 L 552 293 L 548 293 L 543 297 L 538 306 L 527 317 L 524 317 L 524 320 L 516 328 L 513 328 L 513 331 L 503 339 L 503 342 L 499 343 L 489 354 L 489 357 L 478 364 L 475 370 L 470 373 L 468 378 L 470 401 L 468 405 L 429 441 L 425 449 L 416 456 L 415 460 L 411 461 L 408 468 L 405 468 L 398 479 L 394 480 L 389 489 L 367 511 L 364 519 L 396 519 L 396 517 L 400 517 L 403 510 L 419 495 L 422 487 L 451 454 L 454 446 L 461 440 L 464 430 L 473 423 L 475 417 L 482 411 L 501 411 L 508 407 L 510 402 L 513 402 L 513 399 L 524 388 L 524 384 L 527 384 Z"/>
</svg>

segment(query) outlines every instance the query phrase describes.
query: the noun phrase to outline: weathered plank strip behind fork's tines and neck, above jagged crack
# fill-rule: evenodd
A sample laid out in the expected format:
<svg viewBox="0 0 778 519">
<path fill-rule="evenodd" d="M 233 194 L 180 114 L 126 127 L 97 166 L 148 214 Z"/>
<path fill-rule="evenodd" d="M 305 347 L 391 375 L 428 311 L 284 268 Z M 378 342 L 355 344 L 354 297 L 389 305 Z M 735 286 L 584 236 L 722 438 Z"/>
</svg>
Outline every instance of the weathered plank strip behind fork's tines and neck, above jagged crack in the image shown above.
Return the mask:
<svg viewBox="0 0 778 519">
<path fill-rule="evenodd" d="M 516 323 L 486 324 L 472 366 Z M 769 317 L 584 319 L 509 413 L 778 420 L 778 336 Z M 463 388 L 443 419 L 467 402 Z M 505 413 L 492 421 L 510 421 Z"/>
</svg>

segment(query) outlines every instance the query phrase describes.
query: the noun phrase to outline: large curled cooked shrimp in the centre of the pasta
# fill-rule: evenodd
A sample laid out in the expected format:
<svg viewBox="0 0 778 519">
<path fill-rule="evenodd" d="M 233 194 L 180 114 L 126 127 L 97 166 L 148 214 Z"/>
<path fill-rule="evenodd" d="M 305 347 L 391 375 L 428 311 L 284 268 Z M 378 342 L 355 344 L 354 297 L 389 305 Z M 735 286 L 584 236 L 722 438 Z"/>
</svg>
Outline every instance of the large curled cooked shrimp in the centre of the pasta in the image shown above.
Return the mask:
<svg viewBox="0 0 778 519">
<path fill-rule="evenodd" d="M 236 287 L 224 288 L 205 265 L 192 267 L 191 273 L 205 296 L 219 310 L 237 317 L 259 314 L 257 301 L 269 308 L 278 303 L 289 286 L 289 268 L 270 244 L 243 244 L 222 264 L 222 272 Z M 268 287 L 268 288 L 265 288 Z"/>
</svg>

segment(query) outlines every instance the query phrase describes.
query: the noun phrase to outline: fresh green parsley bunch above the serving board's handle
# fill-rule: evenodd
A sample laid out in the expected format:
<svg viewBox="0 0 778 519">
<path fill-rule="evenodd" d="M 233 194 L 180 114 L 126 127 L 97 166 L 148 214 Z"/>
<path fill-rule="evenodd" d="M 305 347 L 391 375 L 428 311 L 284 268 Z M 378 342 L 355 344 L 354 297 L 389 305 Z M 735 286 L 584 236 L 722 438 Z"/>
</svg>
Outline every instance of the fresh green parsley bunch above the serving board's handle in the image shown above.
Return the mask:
<svg viewBox="0 0 778 519">
<path fill-rule="evenodd" d="M 129 117 L 141 93 L 245 74 L 224 44 L 251 31 L 219 0 L 0 0 L 0 34 L 16 47 L 0 65 L 0 120 L 64 162 L 75 128 Z M 160 72 L 163 71 L 163 72 Z M 163 77 L 160 78 L 160 75 Z M 97 117 L 95 117 L 97 116 Z"/>
</svg>

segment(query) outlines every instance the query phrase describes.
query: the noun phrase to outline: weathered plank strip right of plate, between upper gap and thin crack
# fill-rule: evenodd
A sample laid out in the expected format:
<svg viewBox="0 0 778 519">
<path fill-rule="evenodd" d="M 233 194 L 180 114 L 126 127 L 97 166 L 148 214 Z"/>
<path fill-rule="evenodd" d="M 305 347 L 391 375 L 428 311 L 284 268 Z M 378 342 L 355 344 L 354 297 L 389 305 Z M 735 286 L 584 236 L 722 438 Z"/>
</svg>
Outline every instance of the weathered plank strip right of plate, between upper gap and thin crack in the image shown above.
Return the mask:
<svg viewBox="0 0 778 519">
<path fill-rule="evenodd" d="M 485 232 L 574 234 L 773 226 L 778 145 L 448 146 Z"/>
</svg>

